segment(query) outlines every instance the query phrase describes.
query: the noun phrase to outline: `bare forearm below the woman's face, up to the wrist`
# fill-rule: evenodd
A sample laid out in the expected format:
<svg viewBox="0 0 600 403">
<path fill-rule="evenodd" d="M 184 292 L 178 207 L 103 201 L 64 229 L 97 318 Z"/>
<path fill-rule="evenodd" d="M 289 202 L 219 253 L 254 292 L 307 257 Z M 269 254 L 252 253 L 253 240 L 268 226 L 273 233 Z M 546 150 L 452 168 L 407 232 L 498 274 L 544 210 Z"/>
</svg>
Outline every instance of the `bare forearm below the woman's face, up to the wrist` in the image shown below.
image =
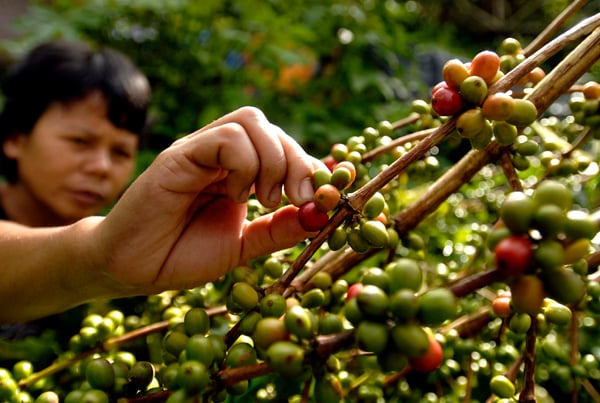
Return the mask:
<svg viewBox="0 0 600 403">
<path fill-rule="evenodd" d="M 115 293 L 94 236 L 99 220 L 55 228 L 0 224 L 0 323 L 47 316 Z"/>
</svg>

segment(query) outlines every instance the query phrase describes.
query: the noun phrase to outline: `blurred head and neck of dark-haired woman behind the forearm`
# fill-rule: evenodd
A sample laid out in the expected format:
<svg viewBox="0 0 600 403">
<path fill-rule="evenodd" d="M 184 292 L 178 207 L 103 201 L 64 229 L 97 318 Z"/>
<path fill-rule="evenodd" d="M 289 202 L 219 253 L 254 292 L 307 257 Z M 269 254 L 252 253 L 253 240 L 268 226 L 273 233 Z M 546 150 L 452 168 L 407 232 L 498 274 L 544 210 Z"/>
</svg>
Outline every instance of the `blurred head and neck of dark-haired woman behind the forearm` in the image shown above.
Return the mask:
<svg viewBox="0 0 600 403">
<path fill-rule="evenodd" d="M 71 224 L 116 199 L 135 167 L 150 100 L 127 57 L 46 43 L 15 66 L 3 91 L 2 218 Z"/>
</svg>

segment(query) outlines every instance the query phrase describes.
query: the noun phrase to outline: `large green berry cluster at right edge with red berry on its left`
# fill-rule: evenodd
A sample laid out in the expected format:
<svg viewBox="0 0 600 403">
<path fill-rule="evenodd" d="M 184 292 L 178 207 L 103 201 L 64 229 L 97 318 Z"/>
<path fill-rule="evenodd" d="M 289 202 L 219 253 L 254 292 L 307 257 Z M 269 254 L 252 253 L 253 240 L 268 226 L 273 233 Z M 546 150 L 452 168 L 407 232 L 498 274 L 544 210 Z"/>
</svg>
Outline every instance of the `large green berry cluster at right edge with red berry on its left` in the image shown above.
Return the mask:
<svg viewBox="0 0 600 403">
<path fill-rule="evenodd" d="M 572 205 L 571 191 L 555 180 L 540 182 L 531 196 L 512 192 L 504 200 L 503 227 L 490 246 L 517 311 L 534 315 L 546 297 L 568 305 L 585 295 L 585 257 L 598 223 Z"/>
</svg>

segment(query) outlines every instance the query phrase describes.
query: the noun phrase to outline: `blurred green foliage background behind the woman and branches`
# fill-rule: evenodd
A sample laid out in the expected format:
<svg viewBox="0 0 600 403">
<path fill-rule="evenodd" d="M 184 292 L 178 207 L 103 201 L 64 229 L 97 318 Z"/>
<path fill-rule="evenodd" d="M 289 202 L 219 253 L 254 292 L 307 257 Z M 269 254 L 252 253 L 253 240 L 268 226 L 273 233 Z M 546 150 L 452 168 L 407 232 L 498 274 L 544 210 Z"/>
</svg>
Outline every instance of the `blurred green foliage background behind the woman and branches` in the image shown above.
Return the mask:
<svg viewBox="0 0 600 403">
<path fill-rule="evenodd" d="M 450 55 L 467 59 L 506 36 L 527 43 L 567 3 L 32 0 L 0 51 L 18 58 L 56 37 L 124 51 L 152 83 L 151 151 L 255 105 L 322 156 L 367 125 L 405 116 Z M 300 82 L 280 84 L 291 70 Z"/>
</svg>

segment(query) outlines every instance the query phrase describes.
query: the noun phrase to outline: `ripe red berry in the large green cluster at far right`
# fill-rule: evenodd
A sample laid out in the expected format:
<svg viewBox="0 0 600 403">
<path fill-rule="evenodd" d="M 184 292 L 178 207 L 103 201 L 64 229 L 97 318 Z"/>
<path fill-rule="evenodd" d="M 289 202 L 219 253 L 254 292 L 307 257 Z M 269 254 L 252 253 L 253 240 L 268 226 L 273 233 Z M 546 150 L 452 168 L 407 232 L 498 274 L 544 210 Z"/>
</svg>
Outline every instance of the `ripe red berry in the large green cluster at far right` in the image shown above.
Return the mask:
<svg viewBox="0 0 600 403">
<path fill-rule="evenodd" d="M 496 267 L 507 276 L 523 274 L 533 262 L 533 245 L 527 238 L 510 236 L 494 248 Z"/>
</svg>

